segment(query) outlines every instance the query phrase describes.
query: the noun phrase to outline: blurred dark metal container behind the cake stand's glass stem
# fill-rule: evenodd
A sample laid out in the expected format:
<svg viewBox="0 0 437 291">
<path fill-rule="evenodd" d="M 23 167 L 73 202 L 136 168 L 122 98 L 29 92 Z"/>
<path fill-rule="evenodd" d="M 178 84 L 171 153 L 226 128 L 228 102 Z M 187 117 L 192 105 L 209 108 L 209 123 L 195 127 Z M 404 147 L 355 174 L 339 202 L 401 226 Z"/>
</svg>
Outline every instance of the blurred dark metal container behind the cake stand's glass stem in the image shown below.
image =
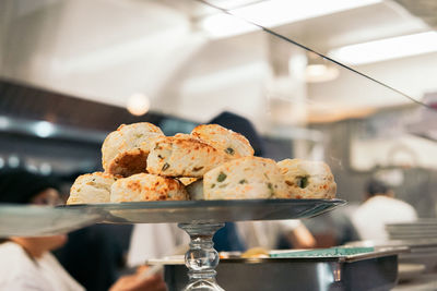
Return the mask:
<svg viewBox="0 0 437 291">
<path fill-rule="evenodd" d="M 408 248 L 387 248 L 340 257 L 224 258 L 216 267 L 217 282 L 226 291 L 390 290 L 397 284 L 398 254 Z M 166 262 L 169 291 L 187 283 L 184 259 Z"/>
</svg>

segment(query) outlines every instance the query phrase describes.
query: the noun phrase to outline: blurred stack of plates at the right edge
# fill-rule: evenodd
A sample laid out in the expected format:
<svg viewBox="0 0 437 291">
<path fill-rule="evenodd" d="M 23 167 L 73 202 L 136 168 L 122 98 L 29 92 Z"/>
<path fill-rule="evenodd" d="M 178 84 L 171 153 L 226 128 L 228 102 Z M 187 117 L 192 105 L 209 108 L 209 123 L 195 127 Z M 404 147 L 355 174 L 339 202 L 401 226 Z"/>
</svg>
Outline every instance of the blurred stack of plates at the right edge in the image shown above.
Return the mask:
<svg viewBox="0 0 437 291">
<path fill-rule="evenodd" d="M 386 226 L 390 240 L 437 239 L 437 219 L 420 219 L 414 222 Z"/>
</svg>

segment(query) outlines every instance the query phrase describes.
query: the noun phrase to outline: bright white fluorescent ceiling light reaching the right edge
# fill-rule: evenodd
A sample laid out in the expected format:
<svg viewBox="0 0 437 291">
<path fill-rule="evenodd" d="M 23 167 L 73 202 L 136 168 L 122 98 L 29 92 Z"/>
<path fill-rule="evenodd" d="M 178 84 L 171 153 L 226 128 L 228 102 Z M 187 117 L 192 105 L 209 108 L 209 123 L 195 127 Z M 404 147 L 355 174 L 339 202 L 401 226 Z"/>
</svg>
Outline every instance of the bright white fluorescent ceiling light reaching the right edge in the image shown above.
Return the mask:
<svg viewBox="0 0 437 291">
<path fill-rule="evenodd" d="M 365 64 L 437 51 L 437 33 L 427 32 L 342 47 L 328 54 L 346 64 Z"/>
</svg>

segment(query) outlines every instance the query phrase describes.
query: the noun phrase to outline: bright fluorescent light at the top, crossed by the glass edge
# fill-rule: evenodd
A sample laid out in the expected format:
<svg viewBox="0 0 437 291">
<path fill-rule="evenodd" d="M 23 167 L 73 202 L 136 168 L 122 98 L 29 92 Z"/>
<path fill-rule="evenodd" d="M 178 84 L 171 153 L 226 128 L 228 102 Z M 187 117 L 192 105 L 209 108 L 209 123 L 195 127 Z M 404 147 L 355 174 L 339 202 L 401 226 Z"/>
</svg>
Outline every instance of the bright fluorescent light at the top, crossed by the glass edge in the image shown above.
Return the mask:
<svg viewBox="0 0 437 291">
<path fill-rule="evenodd" d="M 256 25 L 251 25 L 246 21 L 265 27 L 274 27 L 286 23 L 375 4 L 381 1 L 382 0 L 268 0 L 229 10 L 229 12 L 237 17 L 221 13 L 206 16 L 200 21 L 200 27 L 211 37 L 229 37 L 259 29 Z"/>
</svg>

